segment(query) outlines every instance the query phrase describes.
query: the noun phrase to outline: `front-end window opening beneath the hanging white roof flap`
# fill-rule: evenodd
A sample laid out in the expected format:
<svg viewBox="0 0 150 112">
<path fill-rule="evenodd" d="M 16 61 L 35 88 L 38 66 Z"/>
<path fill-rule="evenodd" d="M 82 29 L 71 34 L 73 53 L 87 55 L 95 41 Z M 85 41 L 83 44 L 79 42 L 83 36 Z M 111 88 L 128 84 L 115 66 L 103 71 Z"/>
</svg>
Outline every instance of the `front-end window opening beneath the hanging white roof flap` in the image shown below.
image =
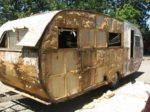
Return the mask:
<svg viewBox="0 0 150 112">
<path fill-rule="evenodd" d="M 25 36 L 27 29 L 17 29 L 14 31 L 6 31 L 0 47 L 9 48 L 9 49 L 21 49 L 22 47 L 17 46 L 16 44 Z"/>
</svg>

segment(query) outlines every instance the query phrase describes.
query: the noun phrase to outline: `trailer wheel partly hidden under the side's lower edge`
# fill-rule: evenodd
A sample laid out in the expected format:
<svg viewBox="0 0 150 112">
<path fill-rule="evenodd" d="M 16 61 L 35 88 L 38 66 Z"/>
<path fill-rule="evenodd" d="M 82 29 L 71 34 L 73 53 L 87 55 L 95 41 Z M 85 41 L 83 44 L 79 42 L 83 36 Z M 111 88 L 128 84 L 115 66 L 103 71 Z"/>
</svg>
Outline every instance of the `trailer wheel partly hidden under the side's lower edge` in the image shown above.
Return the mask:
<svg viewBox="0 0 150 112">
<path fill-rule="evenodd" d="M 110 82 L 110 87 L 113 89 L 117 88 L 119 86 L 119 79 L 119 74 L 115 73 L 114 78 Z"/>
</svg>

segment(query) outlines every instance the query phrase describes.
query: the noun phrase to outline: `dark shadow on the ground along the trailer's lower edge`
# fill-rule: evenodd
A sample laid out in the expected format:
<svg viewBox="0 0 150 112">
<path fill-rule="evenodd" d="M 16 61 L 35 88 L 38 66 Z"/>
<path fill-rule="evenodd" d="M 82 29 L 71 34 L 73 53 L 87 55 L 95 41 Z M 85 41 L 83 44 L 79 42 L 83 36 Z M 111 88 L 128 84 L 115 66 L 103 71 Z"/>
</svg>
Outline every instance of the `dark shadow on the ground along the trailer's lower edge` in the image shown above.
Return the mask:
<svg viewBox="0 0 150 112">
<path fill-rule="evenodd" d="M 120 80 L 119 87 L 129 82 L 134 83 L 135 79 L 138 78 L 142 74 L 143 72 L 136 72 L 125 78 L 122 78 Z M 84 105 L 92 102 L 94 99 L 101 97 L 102 94 L 105 93 L 107 90 L 110 90 L 109 86 L 103 86 L 96 90 L 85 93 L 79 97 L 76 97 L 74 99 L 71 99 L 62 103 L 58 103 L 58 104 L 49 105 L 49 106 L 43 105 L 31 99 L 22 99 L 22 100 L 14 101 L 14 103 L 16 103 L 16 105 L 21 105 L 25 107 L 26 109 L 29 109 L 35 112 L 74 112 L 78 109 L 81 109 Z M 8 108 L 12 108 L 12 107 L 8 107 Z M 3 111 L 5 112 L 5 110 Z M 20 110 L 20 111 L 23 111 L 23 110 Z"/>
</svg>

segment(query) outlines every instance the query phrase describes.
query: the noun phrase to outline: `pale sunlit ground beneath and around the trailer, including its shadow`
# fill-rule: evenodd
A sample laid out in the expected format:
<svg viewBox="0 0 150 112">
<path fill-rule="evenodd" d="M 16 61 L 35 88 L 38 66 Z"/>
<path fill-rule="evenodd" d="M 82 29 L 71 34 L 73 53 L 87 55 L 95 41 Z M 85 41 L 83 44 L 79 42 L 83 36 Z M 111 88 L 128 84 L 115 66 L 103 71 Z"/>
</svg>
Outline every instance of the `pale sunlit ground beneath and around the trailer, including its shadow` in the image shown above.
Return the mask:
<svg viewBox="0 0 150 112">
<path fill-rule="evenodd" d="M 150 92 L 150 57 L 138 72 L 121 79 L 120 86 L 90 91 L 72 100 L 46 106 L 31 99 L 0 103 L 0 112 L 141 112 Z M 0 92 L 7 91 L 0 86 Z"/>
</svg>

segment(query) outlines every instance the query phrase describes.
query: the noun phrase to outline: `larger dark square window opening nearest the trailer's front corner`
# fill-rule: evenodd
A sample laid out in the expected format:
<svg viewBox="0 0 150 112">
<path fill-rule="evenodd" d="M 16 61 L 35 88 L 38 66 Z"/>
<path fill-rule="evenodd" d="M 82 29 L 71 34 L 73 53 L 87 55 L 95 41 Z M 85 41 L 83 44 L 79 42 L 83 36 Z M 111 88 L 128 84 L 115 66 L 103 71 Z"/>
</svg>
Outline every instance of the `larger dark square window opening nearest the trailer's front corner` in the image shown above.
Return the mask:
<svg viewBox="0 0 150 112">
<path fill-rule="evenodd" d="M 59 28 L 59 48 L 77 48 L 77 30 Z"/>
</svg>

